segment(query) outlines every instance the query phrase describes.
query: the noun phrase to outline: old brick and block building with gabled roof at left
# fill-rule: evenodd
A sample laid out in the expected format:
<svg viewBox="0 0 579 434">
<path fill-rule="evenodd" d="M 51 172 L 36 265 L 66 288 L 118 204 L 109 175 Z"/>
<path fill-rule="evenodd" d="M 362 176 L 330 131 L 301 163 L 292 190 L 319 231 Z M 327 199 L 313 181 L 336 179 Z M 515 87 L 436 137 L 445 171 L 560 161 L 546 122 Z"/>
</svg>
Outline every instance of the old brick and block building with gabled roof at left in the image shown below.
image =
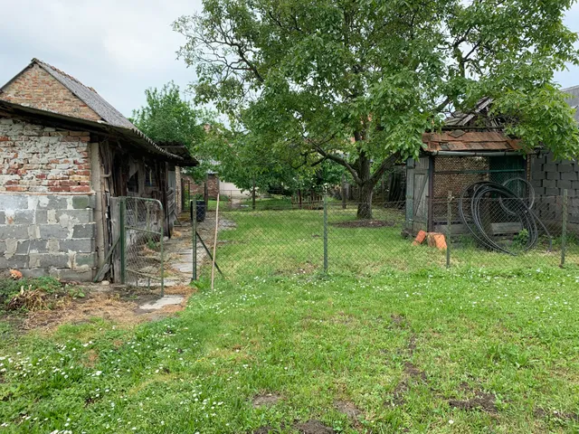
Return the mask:
<svg viewBox="0 0 579 434">
<path fill-rule="evenodd" d="M 176 167 L 93 89 L 34 59 L 0 88 L 0 269 L 90 280 L 113 243 L 112 199 L 158 199 L 170 229 Z"/>
</svg>

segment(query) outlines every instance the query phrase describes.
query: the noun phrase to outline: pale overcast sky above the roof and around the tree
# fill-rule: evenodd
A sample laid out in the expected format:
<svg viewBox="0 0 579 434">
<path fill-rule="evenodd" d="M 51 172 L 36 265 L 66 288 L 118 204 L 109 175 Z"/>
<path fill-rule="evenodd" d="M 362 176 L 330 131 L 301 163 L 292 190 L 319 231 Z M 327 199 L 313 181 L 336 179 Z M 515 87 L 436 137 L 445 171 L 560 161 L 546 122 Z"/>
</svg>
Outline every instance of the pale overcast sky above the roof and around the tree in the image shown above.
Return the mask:
<svg viewBox="0 0 579 434">
<path fill-rule="evenodd" d="M 176 60 L 183 37 L 171 30 L 201 0 L 0 0 L 0 86 L 36 57 L 71 74 L 130 116 L 144 90 L 169 80 L 185 89 L 194 71 Z M 566 24 L 579 31 L 579 5 Z M 579 68 L 560 72 L 563 86 L 579 85 Z"/>
</svg>

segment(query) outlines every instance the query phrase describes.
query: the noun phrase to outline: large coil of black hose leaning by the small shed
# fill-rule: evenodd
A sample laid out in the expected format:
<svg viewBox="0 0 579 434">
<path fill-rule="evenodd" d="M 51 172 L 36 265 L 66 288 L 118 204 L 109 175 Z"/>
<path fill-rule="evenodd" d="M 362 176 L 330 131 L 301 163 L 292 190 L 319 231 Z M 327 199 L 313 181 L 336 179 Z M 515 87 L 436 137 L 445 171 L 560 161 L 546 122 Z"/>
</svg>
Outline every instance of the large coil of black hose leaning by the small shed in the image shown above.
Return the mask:
<svg viewBox="0 0 579 434">
<path fill-rule="evenodd" d="M 521 181 L 527 183 L 527 181 L 522 178 Z M 508 183 L 510 182 L 511 180 L 508 181 Z M 551 234 L 547 231 L 545 224 L 541 222 L 531 209 L 535 202 L 535 192 L 530 184 L 527 183 L 527 186 L 529 188 L 528 199 L 518 197 L 517 193 L 510 190 L 504 184 L 489 181 L 470 184 L 462 191 L 459 200 L 460 219 L 482 246 L 489 250 L 497 250 L 516 256 L 517 253 L 531 250 L 536 246 L 539 240 L 539 226 L 541 226 L 549 238 L 549 250 L 551 249 Z M 505 215 L 508 214 L 517 217 L 522 229 L 527 231 L 525 242 L 519 240 L 521 244 L 518 250 L 509 250 L 507 247 L 498 244 L 498 242 L 493 240 L 491 235 L 489 235 L 483 219 L 483 217 L 489 215 L 489 207 L 487 206 L 485 210 L 481 209 L 482 204 L 488 200 L 490 200 L 491 204 L 498 203 L 499 208 L 494 210 L 495 212 L 502 211 Z M 465 205 L 470 205 L 470 210 L 465 209 Z"/>
</svg>

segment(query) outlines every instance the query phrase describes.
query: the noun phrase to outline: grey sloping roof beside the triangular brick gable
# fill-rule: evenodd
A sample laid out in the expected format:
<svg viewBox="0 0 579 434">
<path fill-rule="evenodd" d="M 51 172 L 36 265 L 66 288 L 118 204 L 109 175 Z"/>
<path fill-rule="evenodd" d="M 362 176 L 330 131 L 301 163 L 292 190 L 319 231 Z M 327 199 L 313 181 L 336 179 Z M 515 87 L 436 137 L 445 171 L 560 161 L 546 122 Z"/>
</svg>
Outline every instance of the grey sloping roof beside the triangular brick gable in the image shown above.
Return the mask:
<svg viewBox="0 0 579 434">
<path fill-rule="evenodd" d="M 108 124 L 114 125 L 115 127 L 137 129 L 128 118 L 125 118 L 119 110 L 112 107 L 96 90 L 85 86 L 81 81 L 76 80 L 66 72 L 54 68 L 44 61 L 33 59 L 32 62 L 38 64 L 44 71 L 51 74 L 56 80 L 59 80 L 65 88 L 71 90 L 74 95 L 81 99 L 90 109 L 94 110 L 94 112 Z"/>
</svg>

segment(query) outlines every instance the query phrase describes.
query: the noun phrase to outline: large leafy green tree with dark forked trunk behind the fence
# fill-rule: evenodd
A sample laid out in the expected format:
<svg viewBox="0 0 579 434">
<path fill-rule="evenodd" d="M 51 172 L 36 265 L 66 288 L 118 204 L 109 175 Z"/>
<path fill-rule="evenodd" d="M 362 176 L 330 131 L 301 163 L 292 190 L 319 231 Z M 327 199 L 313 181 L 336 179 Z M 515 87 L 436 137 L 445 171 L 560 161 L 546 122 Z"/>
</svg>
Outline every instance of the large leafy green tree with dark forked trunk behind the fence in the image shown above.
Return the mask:
<svg viewBox="0 0 579 434">
<path fill-rule="evenodd" d="M 343 165 L 372 216 L 384 172 L 422 133 L 489 97 L 525 146 L 574 156 L 553 72 L 576 62 L 574 0 L 204 0 L 174 24 L 196 97 L 268 146 Z"/>
</svg>

